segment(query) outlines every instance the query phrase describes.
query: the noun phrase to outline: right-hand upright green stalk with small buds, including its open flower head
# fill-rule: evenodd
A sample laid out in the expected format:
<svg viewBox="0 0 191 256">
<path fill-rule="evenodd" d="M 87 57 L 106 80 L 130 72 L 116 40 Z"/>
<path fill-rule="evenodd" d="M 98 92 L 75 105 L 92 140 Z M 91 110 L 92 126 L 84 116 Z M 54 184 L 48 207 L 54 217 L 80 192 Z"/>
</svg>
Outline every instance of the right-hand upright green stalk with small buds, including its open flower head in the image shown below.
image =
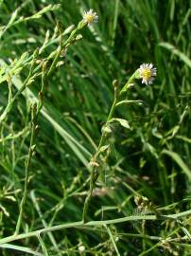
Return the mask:
<svg viewBox="0 0 191 256">
<path fill-rule="evenodd" d="M 117 105 L 120 105 L 122 103 L 129 103 L 129 102 L 138 102 L 140 101 L 127 101 L 120 98 L 120 96 L 127 92 L 131 86 L 133 86 L 133 82 L 137 79 L 142 79 L 142 83 L 145 83 L 146 85 L 151 84 L 155 77 L 157 75 L 157 69 L 153 66 L 153 64 L 141 64 L 139 68 L 135 70 L 135 72 L 130 76 L 130 79 L 126 84 L 123 86 L 121 90 L 119 90 L 120 86 L 117 81 L 113 81 L 113 90 L 114 90 L 114 97 L 113 97 L 113 105 L 111 107 L 111 110 L 109 112 L 108 118 L 106 120 L 106 123 L 103 125 L 101 129 L 101 137 L 99 140 L 99 144 L 97 147 L 96 154 L 91 159 L 91 174 L 90 174 L 90 189 L 88 192 L 88 195 L 86 197 L 84 207 L 83 207 L 83 213 L 82 213 L 82 221 L 85 223 L 87 221 L 87 213 L 89 210 L 90 201 L 94 192 L 94 188 L 96 186 L 96 180 L 100 174 L 100 166 L 98 162 L 101 162 L 101 155 L 103 153 L 106 153 L 107 157 L 110 153 L 110 146 L 107 143 L 107 137 L 108 134 L 112 132 L 110 126 L 112 122 L 118 122 L 120 125 L 122 125 L 125 128 L 130 128 L 129 122 L 126 119 L 117 119 L 113 118 L 114 110 L 117 107 Z M 107 158 L 105 157 L 105 159 Z"/>
</svg>

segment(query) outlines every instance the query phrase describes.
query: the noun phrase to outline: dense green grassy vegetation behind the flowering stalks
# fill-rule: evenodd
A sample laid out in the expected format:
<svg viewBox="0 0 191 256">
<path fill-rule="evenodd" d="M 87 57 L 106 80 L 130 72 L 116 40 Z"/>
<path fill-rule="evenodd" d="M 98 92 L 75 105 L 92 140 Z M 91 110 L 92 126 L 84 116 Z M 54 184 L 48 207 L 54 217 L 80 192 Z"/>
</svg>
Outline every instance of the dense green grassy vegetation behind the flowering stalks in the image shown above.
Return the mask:
<svg viewBox="0 0 191 256">
<path fill-rule="evenodd" d="M 49 46 L 43 57 L 59 45 L 51 40 L 57 22 L 65 40 L 70 31 L 65 29 L 77 26 L 83 10 L 90 8 L 99 22 L 80 31 L 82 40 L 68 48 L 60 59 L 64 64 L 48 78 L 20 233 L 81 220 L 89 188 L 88 163 L 113 102 L 112 82 L 116 79 L 122 87 L 143 63 L 155 64 L 157 80 L 149 87 L 137 82 L 126 94 L 126 99 L 141 100 L 142 105 L 116 110 L 115 116 L 127 119 L 130 129 L 113 124 L 111 154 L 96 183 L 89 220 L 147 216 L 146 210 L 137 208 L 135 195 L 148 197 L 163 214 L 190 210 L 190 1 L 1 0 L 0 114 L 10 91 L 14 96 L 26 80 L 28 58 L 43 46 L 44 38 Z M 44 13 L 35 16 L 41 9 Z M 26 52 L 28 56 L 20 59 Z M 30 104 L 40 90 L 41 78 L 36 77 L 1 122 L 1 238 L 15 231 L 31 134 Z M 39 240 L 29 237 L 2 244 L 0 254 L 188 256 L 189 214 L 181 223 L 136 220 L 60 229 Z"/>
</svg>

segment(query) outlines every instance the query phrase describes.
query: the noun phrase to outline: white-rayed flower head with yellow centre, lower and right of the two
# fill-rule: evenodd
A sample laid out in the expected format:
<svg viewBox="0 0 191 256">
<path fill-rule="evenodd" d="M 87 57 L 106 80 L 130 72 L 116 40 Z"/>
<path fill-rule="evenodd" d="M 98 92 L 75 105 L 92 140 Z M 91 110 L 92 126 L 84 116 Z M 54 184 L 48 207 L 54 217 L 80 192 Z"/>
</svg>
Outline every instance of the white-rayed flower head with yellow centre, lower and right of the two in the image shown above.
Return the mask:
<svg viewBox="0 0 191 256">
<path fill-rule="evenodd" d="M 138 70 L 142 83 L 147 85 L 151 84 L 157 75 L 157 69 L 153 64 L 141 64 Z"/>
</svg>

